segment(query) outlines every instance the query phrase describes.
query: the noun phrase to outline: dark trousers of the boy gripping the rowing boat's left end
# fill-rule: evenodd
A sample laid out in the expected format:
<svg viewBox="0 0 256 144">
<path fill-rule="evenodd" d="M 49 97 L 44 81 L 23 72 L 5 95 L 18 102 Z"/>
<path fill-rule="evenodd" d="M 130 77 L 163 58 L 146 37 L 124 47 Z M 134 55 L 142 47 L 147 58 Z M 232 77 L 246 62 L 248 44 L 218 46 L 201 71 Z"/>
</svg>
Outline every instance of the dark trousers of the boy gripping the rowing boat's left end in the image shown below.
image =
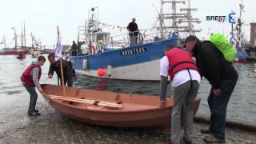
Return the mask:
<svg viewBox="0 0 256 144">
<path fill-rule="evenodd" d="M 26 84 L 23 84 L 23 86 L 30 93 L 29 111 L 34 111 L 35 110 L 35 105 L 37 104 L 37 100 L 38 100 L 38 94 L 37 94 L 37 92 L 36 92 L 34 87 L 27 86 Z"/>
</svg>

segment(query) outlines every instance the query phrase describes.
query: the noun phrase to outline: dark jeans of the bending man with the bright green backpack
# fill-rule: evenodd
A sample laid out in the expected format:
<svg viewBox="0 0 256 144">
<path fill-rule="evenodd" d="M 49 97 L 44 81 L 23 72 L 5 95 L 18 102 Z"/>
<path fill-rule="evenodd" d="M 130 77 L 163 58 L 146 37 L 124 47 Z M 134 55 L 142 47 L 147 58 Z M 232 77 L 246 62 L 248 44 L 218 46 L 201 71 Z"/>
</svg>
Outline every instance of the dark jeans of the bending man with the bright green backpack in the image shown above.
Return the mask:
<svg viewBox="0 0 256 144">
<path fill-rule="evenodd" d="M 234 90 L 238 78 L 223 80 L 220 86 L 222 94 L 216 96 L 213 89 L 210 90 L 208 105 L 210 108 L 210 130 L 218 139 L 225 139 L 226 107 Z"/>
</svg>

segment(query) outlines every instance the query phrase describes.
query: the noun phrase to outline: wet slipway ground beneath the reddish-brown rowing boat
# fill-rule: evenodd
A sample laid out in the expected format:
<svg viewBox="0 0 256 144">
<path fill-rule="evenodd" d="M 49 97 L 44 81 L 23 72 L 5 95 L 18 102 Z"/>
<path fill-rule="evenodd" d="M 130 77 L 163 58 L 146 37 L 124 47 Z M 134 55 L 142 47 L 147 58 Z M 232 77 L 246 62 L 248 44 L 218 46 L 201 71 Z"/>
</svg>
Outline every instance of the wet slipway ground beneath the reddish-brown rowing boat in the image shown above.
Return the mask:
<svg viewBox="0 0 256 144">
<path fill-rule="evenodd" d="M 4 97 L 5 95 L 5 97 Z M 38 96 L 39 117 L 27 116 L 26 91 L 0 94 L 0 143 L 168 143 L 170 134 L 154 129 L 109 128 L 75 122 Z M 206 123 L 194 122 L 194 143 L 204 143 L 199 132 Z M 227 128 L 226 143 L 256 143 L 256 133 Z"/>
</svg>

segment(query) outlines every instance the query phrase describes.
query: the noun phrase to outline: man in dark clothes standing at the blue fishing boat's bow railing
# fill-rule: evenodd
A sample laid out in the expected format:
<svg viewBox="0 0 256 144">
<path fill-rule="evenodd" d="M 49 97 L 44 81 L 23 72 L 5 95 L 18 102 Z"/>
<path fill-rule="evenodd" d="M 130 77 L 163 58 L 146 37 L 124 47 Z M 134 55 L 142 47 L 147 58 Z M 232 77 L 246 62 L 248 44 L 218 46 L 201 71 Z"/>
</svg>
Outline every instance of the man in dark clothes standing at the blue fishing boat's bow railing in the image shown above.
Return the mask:
<svg viewBox="0 0 256 144">
<path fill-rule="evenodd" d="M 136 19 L 133 18 L 132 22 L 130 22 L 129 25 L 127 26 L 127 30 L 130 36 L 130 46 L 134 46 L 138 44 L 139 30 L 138 30 L 138 25 L 135 21 Z"/>
</svg>

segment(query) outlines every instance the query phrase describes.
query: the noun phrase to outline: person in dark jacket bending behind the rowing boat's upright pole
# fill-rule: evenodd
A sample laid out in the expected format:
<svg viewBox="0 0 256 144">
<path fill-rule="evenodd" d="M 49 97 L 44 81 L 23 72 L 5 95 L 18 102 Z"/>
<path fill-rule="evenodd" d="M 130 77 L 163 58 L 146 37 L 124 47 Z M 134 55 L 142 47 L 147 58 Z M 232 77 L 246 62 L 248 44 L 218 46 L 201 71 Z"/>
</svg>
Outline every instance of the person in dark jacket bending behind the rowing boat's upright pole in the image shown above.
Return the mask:
<svg viewBox="0 0 256 144">
<path fill-rule="evenodd" d="M 50 68 L 48 72 L 48 78 L 52 78 L 54 75 L 54 71 L 56 72 L 58 78 L 61 78 L 61 66 L 60 60 L 57 62 L 54 60 L 54 54 L 49 54 L 48 59 L 50 62 Z M 63 77 L 64 77 L 64 85 L 73 86 L 73 77 L 74 77 L 74 70 L 71 62 L 62 59 L 62 66 L 63 66 Z M 62 85 L 62 79 L 61 79 Z"/>
</svg>

